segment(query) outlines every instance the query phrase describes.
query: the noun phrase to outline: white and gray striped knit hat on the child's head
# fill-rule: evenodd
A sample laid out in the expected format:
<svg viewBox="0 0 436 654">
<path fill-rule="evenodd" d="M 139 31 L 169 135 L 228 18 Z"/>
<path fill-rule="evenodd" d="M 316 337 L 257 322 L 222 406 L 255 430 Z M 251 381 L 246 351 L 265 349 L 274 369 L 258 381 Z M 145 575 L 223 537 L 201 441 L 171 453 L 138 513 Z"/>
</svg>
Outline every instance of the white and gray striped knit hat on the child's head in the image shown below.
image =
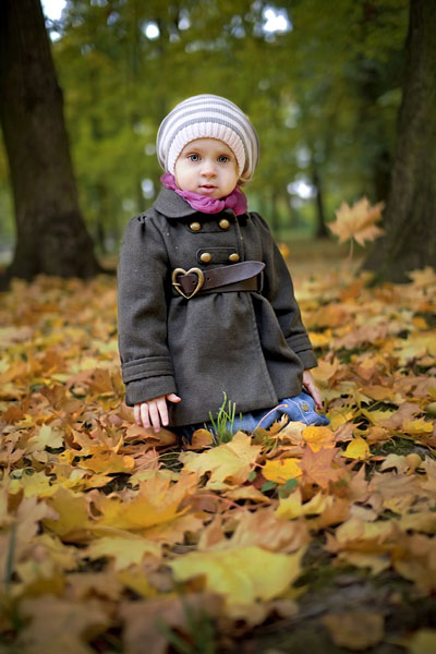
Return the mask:
<svg viewBox="0 0 436 654">
<path fill-rule="evenodd" d="M 160 166 L 174 174 L 175 161 L 185 145 L 196 138 L 218 138 L 234 153 L 242 180 L 253 175 L 258 161 L 256 131 L 237 105 L 216 95 L 197 95 L 174 107 L 157 133 Z"/>
</svg>

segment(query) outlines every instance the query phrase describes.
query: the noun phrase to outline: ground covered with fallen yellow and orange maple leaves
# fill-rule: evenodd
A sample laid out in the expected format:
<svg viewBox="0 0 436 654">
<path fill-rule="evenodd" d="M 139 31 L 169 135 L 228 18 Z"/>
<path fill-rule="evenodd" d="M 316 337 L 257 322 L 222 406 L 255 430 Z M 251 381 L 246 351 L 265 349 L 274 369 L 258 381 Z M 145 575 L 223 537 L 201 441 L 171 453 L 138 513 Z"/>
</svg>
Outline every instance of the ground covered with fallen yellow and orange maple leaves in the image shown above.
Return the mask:
<svg viewBox="0 0 436 654">
<path fill-rule="evenodd" d="M 1 296 L 0 653 L 436 651 L 436 276 L 295 270 L 330 427 L 183 449 L 122 403 L 112 278 Z"/>
</svg>

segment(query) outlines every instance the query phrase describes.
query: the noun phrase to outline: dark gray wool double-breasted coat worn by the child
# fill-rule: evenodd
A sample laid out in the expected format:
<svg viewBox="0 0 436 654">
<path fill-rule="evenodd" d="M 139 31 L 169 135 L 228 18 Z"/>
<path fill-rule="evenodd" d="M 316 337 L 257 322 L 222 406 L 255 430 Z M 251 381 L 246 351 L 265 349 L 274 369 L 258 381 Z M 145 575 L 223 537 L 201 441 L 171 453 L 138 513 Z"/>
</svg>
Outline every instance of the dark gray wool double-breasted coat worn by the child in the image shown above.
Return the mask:
<svg viewBox="0 0 436 654">
<path fill-rule="evenodd" d="M 171 286 L 174 268 L 228 266 L 237 254 L 266 264 L 262 291 L 185 300 Z M 237 413 L 272 408 L 298 395 L 303 370 L 316 366 L 288 268 L 258 214 L 203 214 L 164 189 L 125 228 L 118 298 L 125 401 L 177 392 L 170 426 L 208 421 L 223 393 Z"/>
</svg>

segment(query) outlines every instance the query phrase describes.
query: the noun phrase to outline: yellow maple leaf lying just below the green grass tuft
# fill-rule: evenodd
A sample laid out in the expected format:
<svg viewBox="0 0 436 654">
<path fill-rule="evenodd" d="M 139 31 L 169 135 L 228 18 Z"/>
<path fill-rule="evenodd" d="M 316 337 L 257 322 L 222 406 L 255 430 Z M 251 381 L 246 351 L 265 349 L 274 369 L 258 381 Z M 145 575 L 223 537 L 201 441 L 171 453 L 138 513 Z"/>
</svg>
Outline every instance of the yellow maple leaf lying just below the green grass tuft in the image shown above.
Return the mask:
<svg viewBox="0 0 436 654">
<path fill-rule="evenodd" d="M 252 445 L 250 436 L 238 432 L 230 443 L 219 445 L 199 455 L 183 452 L 179 459 L 185 470 L 198 474 L 210 472 L 209 483 L 222 483 L 228 480 L 232 484 L 243 484 L 252 471 L 261 449 L 261 445 Z"/>
</svg>

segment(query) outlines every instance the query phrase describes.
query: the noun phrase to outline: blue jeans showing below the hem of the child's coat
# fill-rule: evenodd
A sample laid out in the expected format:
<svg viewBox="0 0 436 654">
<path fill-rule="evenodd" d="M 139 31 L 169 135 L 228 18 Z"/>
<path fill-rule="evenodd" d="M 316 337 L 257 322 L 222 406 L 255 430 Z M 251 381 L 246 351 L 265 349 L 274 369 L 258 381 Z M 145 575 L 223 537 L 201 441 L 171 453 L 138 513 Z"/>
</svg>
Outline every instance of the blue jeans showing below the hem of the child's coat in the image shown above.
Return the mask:
<svg viewBox="0 0 436 654">
<path fill-rule="evenodd" d="M 328 425 L 330 421 L 322 413 L 317 413 L 315 409 L 315 402 L 307 392 L 304 390 L 300 395 L 293 398 L 286 398 L 281 400 L 274 409 L 263 409 L 262 411 L 254 411 L 252 413 L 242 413 L 240 416 L 234 419 L 233 426 L 227 423 L 227 428 L 230 433 L 235 434 L 240 429 L 242 432 L 254 432 L 257 427 L 268 429 L 275 422 L 281 419 L 282 415 L 288 416 L 287 422 L 303 422 L 306 425 Z M 206 428 L 213 429 L 210 422 L 197 423 L 195 425 L 186 425 L 179 427 L 179 436 L 183 436 L 187 441 L 191 443 L 193 433 L 196 429 Z"/>
</svg>

